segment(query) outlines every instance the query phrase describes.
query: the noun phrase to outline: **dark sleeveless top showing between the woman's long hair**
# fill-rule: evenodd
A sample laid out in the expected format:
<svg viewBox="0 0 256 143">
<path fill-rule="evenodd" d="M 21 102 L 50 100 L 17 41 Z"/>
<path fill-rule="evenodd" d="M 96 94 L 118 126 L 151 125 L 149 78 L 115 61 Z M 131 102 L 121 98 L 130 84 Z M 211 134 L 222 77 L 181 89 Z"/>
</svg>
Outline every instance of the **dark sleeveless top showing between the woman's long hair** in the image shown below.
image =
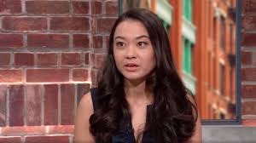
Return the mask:
<svg viewBox="0 0 256 143">
<path fill-rule="evenodd" d="M 95 103 L 96 103 L 96 89 L 90 89 L 91 94 L 91 100 L 93 104 L 93 109 L 95 110 Z M 151 106 L 147 106 L 147 117 L 146 122 L 148 118 L 148 108 Z M 122 123 L 122 129 L 119 129 L 117 132 L 115 132 L 112 135 L 112 143 L 134 143 L 135 137 L 132 131 L 132 125 L 131 125 L 131 119 L 125 118 L 123 120 L 124 123 Z M 150 134 L 145 131 L 143 133 L 143 139 L 142 143 L 153 143 L 153 138 L 150 136 Z"/>
</svg>

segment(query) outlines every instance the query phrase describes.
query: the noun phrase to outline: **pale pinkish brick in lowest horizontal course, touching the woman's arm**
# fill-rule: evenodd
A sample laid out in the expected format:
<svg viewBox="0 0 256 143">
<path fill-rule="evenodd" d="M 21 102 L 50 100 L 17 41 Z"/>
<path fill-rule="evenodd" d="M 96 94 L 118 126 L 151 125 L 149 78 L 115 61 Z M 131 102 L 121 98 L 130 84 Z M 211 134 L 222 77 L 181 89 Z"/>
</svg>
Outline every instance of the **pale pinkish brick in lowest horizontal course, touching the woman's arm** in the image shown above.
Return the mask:
<svg viewBox="0 0 256 143">
<path fill-rule="evenodd" d="M 49 134 L 73 134 L 73 125 L 49 126 Z"/>
</svg>

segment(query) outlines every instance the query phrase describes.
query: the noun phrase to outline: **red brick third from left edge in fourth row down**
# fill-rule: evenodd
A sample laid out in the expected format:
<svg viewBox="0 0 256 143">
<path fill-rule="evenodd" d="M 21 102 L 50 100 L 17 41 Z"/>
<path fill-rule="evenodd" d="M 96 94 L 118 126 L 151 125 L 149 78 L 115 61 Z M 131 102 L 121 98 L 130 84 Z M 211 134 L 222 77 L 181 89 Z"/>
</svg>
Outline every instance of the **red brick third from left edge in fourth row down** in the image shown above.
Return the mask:
<svg viewBox="0 0 256 143">
<path fill-rule="evenodd" d="M 38 54 L 38 66 L 57 66 L 58 54 L 42 53 Z"/>
</svg>

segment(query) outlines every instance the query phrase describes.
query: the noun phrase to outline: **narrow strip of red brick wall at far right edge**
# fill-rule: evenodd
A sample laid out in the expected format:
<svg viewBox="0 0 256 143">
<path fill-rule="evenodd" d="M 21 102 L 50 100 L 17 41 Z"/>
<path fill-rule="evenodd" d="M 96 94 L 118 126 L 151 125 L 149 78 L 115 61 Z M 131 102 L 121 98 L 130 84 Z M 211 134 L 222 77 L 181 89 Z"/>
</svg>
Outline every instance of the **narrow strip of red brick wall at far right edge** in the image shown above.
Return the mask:
<svg viewBox="0 0 256 143">
<path fill-rule="evenodd" d="M 241 118 L 256 126 L 256 1 L 241 1 Z"/>
</svg>

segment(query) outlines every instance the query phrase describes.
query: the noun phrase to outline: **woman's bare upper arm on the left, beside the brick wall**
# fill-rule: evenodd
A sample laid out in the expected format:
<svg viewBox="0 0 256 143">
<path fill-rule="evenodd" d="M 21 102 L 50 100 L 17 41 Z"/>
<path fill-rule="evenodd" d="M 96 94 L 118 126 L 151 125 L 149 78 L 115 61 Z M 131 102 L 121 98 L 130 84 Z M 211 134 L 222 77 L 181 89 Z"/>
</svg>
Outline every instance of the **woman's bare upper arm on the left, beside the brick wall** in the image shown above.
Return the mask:
<svg viewBox="0 0 256 143">
<path fill-rule="evenodd" d="M 93 106 L 90 93 L 85 94 L 79 102 L 74 123 L 74 143 L 94 143 L 90 134 L 90 115 L 93 114 Z"/>
</svg>

